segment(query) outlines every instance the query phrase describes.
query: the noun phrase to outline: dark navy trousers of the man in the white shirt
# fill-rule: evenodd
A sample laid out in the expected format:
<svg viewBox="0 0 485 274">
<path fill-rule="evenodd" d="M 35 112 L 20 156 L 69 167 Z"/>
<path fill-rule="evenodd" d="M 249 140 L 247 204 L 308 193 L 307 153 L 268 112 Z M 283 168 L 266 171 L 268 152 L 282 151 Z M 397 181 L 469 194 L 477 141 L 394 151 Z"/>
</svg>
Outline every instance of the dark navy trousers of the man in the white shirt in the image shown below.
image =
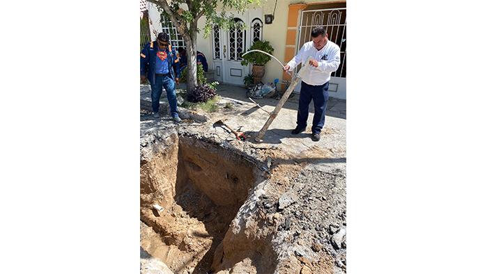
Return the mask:
<svg viewBox="0 0 485 274">
<path fill-rule="evenodd" d="M 311 99 L 314 100 L 315 115 L 313 124 L 311 126 L 311 133 L 320 134 L 325 124 L 325 111 L 327 110 L 328 102 L 328 86 L 329 82 L 321 86 L 311 86 L 302 81 L 302 88 L 300 90 L 300 101 L 298 102 L 298 115 L 296 124 L 298 128 L 307 127 L 308 120 L 308 106 Z"/>
</svg>

